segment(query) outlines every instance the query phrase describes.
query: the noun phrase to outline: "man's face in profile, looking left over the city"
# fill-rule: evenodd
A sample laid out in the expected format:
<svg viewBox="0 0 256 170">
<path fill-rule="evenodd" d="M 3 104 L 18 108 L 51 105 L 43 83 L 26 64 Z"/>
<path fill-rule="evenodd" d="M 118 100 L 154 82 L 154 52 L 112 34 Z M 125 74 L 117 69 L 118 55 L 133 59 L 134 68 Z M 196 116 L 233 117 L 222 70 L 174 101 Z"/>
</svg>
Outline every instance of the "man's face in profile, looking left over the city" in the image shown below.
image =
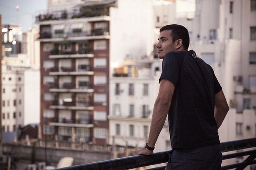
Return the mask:
<svg viewBox="0 0 256 170">
<path fill-rule="evenodd" d="M 172 30 L 166 29 L 160 32 L 157 47 L 158 58 L 163 59 L 169 52 L 175 52 L 175 42 L 172 42 Z"/>
</svg>

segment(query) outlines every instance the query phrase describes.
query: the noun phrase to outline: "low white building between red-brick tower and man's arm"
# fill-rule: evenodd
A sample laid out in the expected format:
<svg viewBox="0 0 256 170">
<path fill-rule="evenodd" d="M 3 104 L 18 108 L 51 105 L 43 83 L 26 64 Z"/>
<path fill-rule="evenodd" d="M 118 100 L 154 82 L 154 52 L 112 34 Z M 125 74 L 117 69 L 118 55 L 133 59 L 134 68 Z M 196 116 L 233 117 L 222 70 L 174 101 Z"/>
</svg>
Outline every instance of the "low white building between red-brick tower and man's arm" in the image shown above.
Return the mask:
<svg viewBox="0 0 256 170">
<path fill-rule="evenodd" d="M 154 102 L 158 95 L 161 61 L 135 60 L 137 77 L 112 77 L 110 80 L 110 144 L 144 147 L 148 140 Z M 129 67 L 128 66 L 128 67 Z M 155 151 L 170 149 L 168 126 L 163 128 Z"/>
</svg>

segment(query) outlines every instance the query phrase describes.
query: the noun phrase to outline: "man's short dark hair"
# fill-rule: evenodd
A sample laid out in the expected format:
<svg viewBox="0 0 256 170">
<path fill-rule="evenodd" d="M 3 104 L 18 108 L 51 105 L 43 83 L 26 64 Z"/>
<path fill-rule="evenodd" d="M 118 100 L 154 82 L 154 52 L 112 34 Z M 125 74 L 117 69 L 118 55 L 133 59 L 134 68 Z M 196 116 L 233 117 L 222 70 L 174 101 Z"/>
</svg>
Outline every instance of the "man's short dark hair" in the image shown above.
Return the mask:
<svg viewBox="0 0 256 170">
<path fill-rule="evenodd" d="M 177 24 L 166 25 L 160 29 L 160 32 L 162 32 L 163 30 L 166 30 L 166 29 L 172 30 L 171 36 L 172 36 L 173 42 L 175 40 L 181 39 L 183 48 L 188 50 L 188 48 L 189 48 L 189 32 L 184 26 L 177 25 Z"/>
</svg>

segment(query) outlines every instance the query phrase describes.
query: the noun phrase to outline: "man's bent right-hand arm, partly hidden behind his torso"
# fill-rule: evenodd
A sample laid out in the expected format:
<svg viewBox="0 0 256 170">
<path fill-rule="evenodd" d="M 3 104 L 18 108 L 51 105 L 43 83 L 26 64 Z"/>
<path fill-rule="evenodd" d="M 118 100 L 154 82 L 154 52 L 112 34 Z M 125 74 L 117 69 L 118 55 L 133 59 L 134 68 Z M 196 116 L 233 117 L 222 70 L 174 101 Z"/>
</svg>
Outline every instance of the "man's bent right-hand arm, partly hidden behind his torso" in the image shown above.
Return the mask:
<svg viewBox="0 0 256 170">
<path fill-rule="evenodd" d="M 227 112 L 229 110 L 225 95 L 222 90 L 215 94 L 214 102 L 215 102 L 214 118 L 219 128 L 222 122 L 224 121 L 224 118 L 226 117 Z"/>
</svg>

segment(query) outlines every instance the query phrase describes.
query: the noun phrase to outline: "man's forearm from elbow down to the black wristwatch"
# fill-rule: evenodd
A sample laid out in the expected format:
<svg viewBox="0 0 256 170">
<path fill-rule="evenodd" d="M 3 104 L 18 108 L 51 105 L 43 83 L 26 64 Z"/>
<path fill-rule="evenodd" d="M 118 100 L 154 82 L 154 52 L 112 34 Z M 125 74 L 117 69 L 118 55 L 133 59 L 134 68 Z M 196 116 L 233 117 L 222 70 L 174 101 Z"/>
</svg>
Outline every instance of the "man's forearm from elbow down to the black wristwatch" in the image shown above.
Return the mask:
<svg viewBox="0 0 256 170">
<path fill-rule="evenodd" d="M 150 131 L 148 136 L 148 146 L 154 147 L 157 141 L 157 138 L 166 121 L 166 116 L 168 115 L 170 105 L 171 105 L 171 101 L 163 103 L 158 99 L 156 100 L 154 104 Z"/>
</svg>

